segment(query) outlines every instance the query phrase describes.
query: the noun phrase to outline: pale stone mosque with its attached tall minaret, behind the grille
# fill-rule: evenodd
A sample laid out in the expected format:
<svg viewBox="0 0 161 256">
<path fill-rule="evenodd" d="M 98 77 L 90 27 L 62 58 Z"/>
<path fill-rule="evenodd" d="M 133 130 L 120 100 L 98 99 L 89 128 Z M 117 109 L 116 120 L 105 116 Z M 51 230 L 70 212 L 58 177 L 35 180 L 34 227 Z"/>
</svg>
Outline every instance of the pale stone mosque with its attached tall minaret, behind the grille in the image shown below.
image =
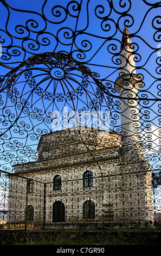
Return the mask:
<svg viewBox="0 0 161 256">
<path fill-rule="evenodd" d="M 19 177 L 10 178 L 10 222 L 23 222 L 25 216 L 35 224 L 153 220 L 151 170 L 139 144 L 137 92 L 143 81 L 133 51 L 125 27 L 114 83 L 121 135 L 85 127 L 42 135 L 38 160 L 14 166 Z"/>
</svg>

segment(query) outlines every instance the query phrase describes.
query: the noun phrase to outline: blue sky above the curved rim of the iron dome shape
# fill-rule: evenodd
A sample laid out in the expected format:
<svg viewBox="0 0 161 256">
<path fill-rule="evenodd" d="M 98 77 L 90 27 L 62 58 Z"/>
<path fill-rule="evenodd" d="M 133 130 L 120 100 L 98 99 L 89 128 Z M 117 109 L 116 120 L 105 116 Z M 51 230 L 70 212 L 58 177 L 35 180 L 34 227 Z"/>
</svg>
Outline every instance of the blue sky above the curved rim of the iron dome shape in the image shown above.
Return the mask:
<svg viewBox="0 0 161 256">
<path fill-rule="evenodd" d="M 43 0 L 36 0 L 34 3 L 33 1 L 9 0 L 7 3 L 12 8 L 8 7 L 8 10 L 1 3 L 1 34 L 5 40 L 3 42 L 2 39 L 2 62 L 16 66 L 33 54 L 53 51 L 66 51 L 69 53 L 72 51 L 74 59 L 85 63 L 92 72 L 97 72 L 100 78 L 105 79 L 107 77 L 107 80 L 115 81 L 119 74 L 119 63 L 117 62 L 118 57 L 114 57 L 114 54 L 120 50 L 122 37 L 120 31 L 123 31 L 126 24 L 130 26 L 129 32 L 134 35 L 132 38 L 133 44 L 139 45 L 139 48 L 136 45 L 136 49 L 138 48 L 136 51 L 136 58 L 138 58 L 136 64 L 143 68 L 138 72 L 145 77 L 146 89 L 150 88 L 152 83 L 160 78 L 160 74 L 156 73 L 156 51 L 160 41 L 158 38 L 159 33 L 153 37 L 157 31 L 156 28 L 160 26 L 159 23 L 157 24 L 157 19 L 155 19 L 157 15 L 160 15 L 160 8 L 152 8 L 150 5 L 158 1 L 147 1 L 149 4 L 145 4 L 144 1 L 132 0 L 132 6 L 127 13 L 126 11 L 130 7 L 128 1 L 125 1 L 124 8 L 119 7 L 118 1 L 113 1 L 115 11 L 112 10 L 110 14 L 111 8 L 107 1 L 100 0 L 97 7 L 98 1 L 83 0 L 79 19 L 68 15 L 67 19 L 61 22 L 66 16 L 63 8 L 57 7 L 53 10 L 54 14 L 56 14 L 56 11 L 61 11 L 60 17 L 59 13 L 54 17 L 51 10 L 54 8 L 54 4 L 66 7 L 68 2 L 67 0 L 54 2 L 48 0 L 43 7 Z M 104 10 L 102 10 L 101 4 L 104 5 Z M 29 11 L 33 13 L 29 13 Z M 126 13 L 125 17 L 121 16 L 123 11 Z M 73 13 L 75 16 L 78 15 L 78 11 Z M 42 14 L 46 16 L 46 22 L 43 20 Z M 110 20 L 102 22 L 103 18 L 109 14 L 108 18 Z M 31 25 L 29 20 L 34 20 L 34 26 Z M 12 36 L 7 35 L 5 32 L 6 21 L 8 21 L 8 34 L 11 33 Z M 115 28 L 115 23 L 118 23 L 119 29 Z M 109 30 L 108 25 L 111 26 Z M 155 25 L 156 28 L 154 28 Z M 29 28 L 30 32 L 26 28 Z M 75 29 L 76 38 L 73 43 L 72 33 Z M 82 34 L 79 33 L 80 30 Z M 43 31 L 43 34 L 39 34 L 40 31 Z M 24 38 L 27 38 L 27 40 Z M 11 45 L 11 40 L 13 40 L 12 46 L 7 50 L 7 46 Z M 37 40 L 40 42 L 39 45 Z M 82 51 L 80 52 L 79 49 Z M 11 58 L 9 54 L 12 54 Z M 1 67 L 0 74 L 4 75 L 7 71 Z M 155 84 L 153 88 L 156 86 Z M 154 92 L 157 94 L 157 90 L 153 90 Z M 149 95 L 149 97 L 152 96 Z"/>
</svg>

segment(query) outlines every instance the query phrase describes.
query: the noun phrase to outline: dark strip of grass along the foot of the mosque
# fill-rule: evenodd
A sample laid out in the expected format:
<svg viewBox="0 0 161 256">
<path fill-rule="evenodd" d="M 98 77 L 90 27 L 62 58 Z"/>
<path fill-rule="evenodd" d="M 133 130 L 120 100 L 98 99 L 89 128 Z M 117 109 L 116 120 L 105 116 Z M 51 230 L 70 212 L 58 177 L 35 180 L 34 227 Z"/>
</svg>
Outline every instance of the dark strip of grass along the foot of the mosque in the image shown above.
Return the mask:
<svg viewBox="0 0 161 256">
<path fill-rule="evenodd" d="M 159 230 L 161 230 L 160 226 L 155 228 L 131 227 L 126 230 L 109 227 L 91 230 L 80 227 L 73 229 L 62 228 L 54 231 L 53 229 L 42 228 L 35 230 L 35 234 L 31 230 L 28 231 L 25 240 L 22 240 L 25 242 L 21 243 L 17 240 L 18 233 L 15 233 L 15 242 L 12 241 L 12 245 L 157 245 L 156 239 L 151 239 L 150 234 Z M 142 231 L 145 231 L 144 235 L 142 235 Z M 9 243 L 8 241 L 3 241 L 2 245 L 9 245 Z"/>
</svg>

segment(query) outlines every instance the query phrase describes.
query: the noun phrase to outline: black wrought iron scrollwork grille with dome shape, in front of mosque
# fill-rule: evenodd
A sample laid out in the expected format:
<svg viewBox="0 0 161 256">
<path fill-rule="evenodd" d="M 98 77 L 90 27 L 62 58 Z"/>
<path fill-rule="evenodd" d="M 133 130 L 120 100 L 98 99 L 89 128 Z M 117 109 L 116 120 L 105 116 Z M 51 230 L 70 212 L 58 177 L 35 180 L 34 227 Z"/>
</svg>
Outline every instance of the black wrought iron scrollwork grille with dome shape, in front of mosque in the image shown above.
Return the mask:
<svg viewBox="0 0 161 256">
<path fill-rule="evenodd" d="M 0 5 L 1 228 L 159 225 L 161 2 Z"/>
</svg>

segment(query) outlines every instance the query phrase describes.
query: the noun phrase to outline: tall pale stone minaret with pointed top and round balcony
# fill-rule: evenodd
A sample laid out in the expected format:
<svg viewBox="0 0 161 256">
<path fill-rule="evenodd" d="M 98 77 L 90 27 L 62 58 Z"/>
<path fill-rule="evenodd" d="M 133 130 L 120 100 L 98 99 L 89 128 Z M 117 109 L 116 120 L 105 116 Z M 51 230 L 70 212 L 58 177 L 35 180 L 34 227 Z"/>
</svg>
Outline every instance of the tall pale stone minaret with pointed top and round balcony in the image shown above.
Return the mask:
<svg viewBox="0 0 161 256">
<path fill-rule="evenodd" d="M 126 154 L 136 155 L 140 135 L 138 90 L 143 84 L 141 76 L 136 74 L 134 62 L 134 49 L 128 29 L 124 28 L 124 34 L 120 49 L 120 74 L 115 81 L 115 90 L 120 94 L 120 114 L 121 114 L 121 147 Z M 129 152 L 131 151 L 131 153 Z M 138 154 L 137 154 L 138 155 Z"/>
</svg>

